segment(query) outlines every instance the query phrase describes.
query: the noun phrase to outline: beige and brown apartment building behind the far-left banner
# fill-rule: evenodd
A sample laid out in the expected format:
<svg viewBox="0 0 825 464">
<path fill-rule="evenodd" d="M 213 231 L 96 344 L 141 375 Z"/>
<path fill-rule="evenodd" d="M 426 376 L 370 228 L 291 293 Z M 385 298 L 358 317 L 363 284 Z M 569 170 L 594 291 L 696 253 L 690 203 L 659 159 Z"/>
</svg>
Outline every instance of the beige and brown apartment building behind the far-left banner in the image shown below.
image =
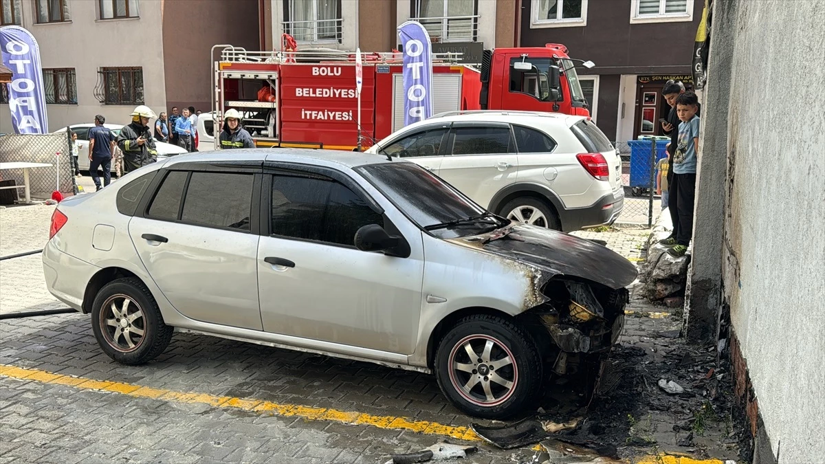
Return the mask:
<svg viewBox="0 0 825 464">
<path fill-rule="evenodd" d="M 259 46 L 258 0 L 2 0 L 0 26 L 31 31 L 49 130 L 102 114 L 125 124 L 136 105 L 208 110 L 215 44 Z M 7 89 L 0 86 L 0 102 Z M 6 105 L 0 132 L 10 132 Z"/>
</svg>

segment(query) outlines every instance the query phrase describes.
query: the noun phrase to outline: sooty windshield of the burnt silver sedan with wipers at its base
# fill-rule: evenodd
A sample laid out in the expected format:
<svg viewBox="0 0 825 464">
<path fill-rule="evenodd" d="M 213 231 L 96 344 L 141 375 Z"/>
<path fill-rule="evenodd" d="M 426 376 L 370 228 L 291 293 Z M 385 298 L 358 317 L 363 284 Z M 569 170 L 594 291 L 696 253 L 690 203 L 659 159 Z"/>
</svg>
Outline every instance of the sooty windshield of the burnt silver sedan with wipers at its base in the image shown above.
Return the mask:
<svg viewBox="0 0 825 464">
<path fill-rule="evenodd" d="M 419 227 L 442 238 L 479 234 L 504 225 L 454 187 L 413 163 L 356 168 Z"/>
</svg>

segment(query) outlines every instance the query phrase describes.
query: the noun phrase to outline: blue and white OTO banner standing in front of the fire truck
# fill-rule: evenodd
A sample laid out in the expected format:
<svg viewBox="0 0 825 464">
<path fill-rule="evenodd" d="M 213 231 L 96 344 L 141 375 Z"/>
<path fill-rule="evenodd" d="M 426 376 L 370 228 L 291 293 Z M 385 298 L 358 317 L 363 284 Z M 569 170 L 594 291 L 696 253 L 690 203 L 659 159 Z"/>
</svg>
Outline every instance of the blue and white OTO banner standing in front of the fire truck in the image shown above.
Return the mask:
<svg viewBox="0 0 825 464">
<path fill-rule="evenodd" d="M 404 125 L 432 116 L 432 53 L 430 35 L 417 21 L 398 26 L 403 48 Z"/>
</svg>

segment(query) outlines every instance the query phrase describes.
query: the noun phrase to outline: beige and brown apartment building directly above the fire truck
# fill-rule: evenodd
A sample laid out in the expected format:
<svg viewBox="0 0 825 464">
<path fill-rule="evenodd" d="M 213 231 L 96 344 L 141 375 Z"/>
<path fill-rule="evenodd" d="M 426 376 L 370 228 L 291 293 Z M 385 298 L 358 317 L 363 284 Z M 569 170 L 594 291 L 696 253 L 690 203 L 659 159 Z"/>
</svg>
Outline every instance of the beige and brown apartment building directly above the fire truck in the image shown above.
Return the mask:
<svg viewBox="0 0 825 464">
<path fill-rule="evenodd" d="M 427 28 L 434 52 L 479 63 L 484 48 L 516 43 L 516 8 L 516 0 L 269 0 L 262 44 L 280 49 L 286 33 L 301 48 L 399 50 L 397 27 L 413 19 Z"/>
</svg>

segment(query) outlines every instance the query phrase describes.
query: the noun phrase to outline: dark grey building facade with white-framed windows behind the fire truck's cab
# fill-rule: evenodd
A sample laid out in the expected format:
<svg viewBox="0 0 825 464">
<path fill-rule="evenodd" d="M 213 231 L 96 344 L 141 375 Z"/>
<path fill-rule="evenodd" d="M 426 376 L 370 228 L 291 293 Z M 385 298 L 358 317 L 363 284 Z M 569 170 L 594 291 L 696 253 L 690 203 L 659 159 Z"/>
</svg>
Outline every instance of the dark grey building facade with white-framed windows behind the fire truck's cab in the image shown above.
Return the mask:
<svg viewBox="0 0 825 464">
<path fill-rule="evenodd" d="M 612 140 L 661 135 L 668 79 L 692 85 L 701 0 L 519 0 L 519 46 L 567 45 L 596 125 Z"/>
</svg>

